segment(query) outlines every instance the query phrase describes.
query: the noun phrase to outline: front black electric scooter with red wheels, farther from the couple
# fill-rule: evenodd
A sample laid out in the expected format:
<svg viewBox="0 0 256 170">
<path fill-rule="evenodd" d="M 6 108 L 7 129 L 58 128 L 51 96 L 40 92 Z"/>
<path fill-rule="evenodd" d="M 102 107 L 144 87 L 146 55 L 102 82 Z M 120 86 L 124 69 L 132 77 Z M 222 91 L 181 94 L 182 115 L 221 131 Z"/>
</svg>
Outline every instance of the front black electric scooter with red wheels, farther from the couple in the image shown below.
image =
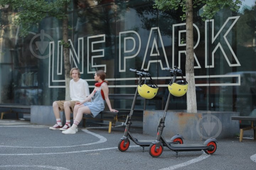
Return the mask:
<svg viewBox="0 0 256 170">
<path fill-rule="evenodd" d="M 169 71 L 171 76 L 173 75 L 172 81 L 170 84 L 175 83 L 176 74 L 180 73 L 182 75 L 182 70 L 178 69 L 176 66 L 173 68 L 165 68 L 166 71 Z M 183 78 L 183 77 L 182 77 Z M 207 139 L 203 144 L 175 144 L 168 143 L 165 138 L 162 136 L 162 132 L 165 127 L 165 117 L 167 114 L 168 103 L 170 101 L 171 93 L 169 93 L 167 98 L 166 107 L 164 110 L 163 117 L 160 117 L 159 124 L 158 124 L 158 133 L 156 136 L 156 140 L 151 143 L 149 146 L 149 154 L 152 157 L 159 157 L 163 152 L 163 146 L 171 149 L 172 151 L 176 152 L 176 157 L 178 157 L 178 151 L 204 151 L 207 154 L 213 154 L 217 149 L 218 142 L 215 138 Z"/>
</svg>

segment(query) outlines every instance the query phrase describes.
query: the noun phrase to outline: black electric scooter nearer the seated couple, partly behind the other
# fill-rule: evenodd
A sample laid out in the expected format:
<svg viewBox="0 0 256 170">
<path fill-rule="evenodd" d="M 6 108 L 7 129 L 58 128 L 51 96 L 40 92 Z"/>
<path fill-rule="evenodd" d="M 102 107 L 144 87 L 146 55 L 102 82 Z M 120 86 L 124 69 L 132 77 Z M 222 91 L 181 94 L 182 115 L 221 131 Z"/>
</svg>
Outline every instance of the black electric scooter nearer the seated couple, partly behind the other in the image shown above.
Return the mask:
<svg viewBox="0 0 256 170">
<path fill-rule="evenodd" d="M 142 76 L 145 76 L 145 77 L 150 77 L 150 73 L 146 73 L 144 72 L 144 70 L 134 70 L 134 69 L 129 69 L 130 72 L 135 72 L 137 75 L 139 75 L 139 81 L 138 81 L 138 84 L 141 83 L 142 81 Z M 145 83 L 145 82 L 144 82 Z M 123 137 L 120 139 L 120 141 L 118 142 L 118 149 L 119 151 L 126 151 L 129 146 L 130 146 L 130 141 L 129 141 L 129 138 L 130 140 L 132 140 L 136 145 L 139 145 L 139 146 L 142 146 L 143 147 L 143 152 L 144 152 L 144 147 L 148 147 L 150 146 L 150 144 L 152 142 L 154 142 L 154 140 L 138 140 L 137 138 L 134 138 L 132 136 L 132 134 L 130 133 L 130 125 L 132 124 L 132 115 L 133 115 L 133 111 L 134 111 L 134 106 L 135 106 L 135 101 L 137 99 L 137 96 L 138 96 L 138 87 L 136 89 L 136 92 L 135 92 L 135 95 L 134 95 L 134 99 L 133 99 L 133 103 L 132 103 L 132 108 L 130 110 L 130 113 L 127 115 L 127 118 L 126 118 L 126 128 L 124 130 L 124 135 Z M 173 136 L 170 141 L 165 141 L 167 143 L 173 143 L 173 144 L 183 144 L 183 137 L 181 135 L 175 135 Z"/>
</svg>

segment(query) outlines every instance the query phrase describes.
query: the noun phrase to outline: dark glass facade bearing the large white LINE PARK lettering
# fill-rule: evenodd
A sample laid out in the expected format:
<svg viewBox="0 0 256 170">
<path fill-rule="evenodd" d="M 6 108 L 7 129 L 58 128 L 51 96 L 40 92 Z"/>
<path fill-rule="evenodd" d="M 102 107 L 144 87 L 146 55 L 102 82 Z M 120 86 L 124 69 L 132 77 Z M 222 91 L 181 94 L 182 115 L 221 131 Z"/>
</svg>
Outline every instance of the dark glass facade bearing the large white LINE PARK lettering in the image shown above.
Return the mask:
<svg viewBox="0 0 256 170">
<path fill-rule="evenodd" d="M 239 12 L 220 10 L 202 21 L 194 9 L 194 74 L 197 109 L 252 115 L 256 106 L 256 4 L 242 1 Z M 150 0 L 74 0 L 69 10 L 71 67 L 78 67 L 90 90 L 94 73 L 103 69 L 110 94 L 134 94 L 138 78 L 129 68 L 148 70 L 158 95 L 167 97 L 170 75 L 185 73 L 186 29 L 181 11 L 161 12 Z M 0 16 L 0 103 L 51 105 L 65 98 L 62 21 L 45 18 L 26 37 L 12 24 L 9 6 Z M 112 101 L 130 108 L 132 101 Z M 143 101 L 137 107 L 143 108 Z M 162 109 L 146 100 L 146 109 Z M 186 96 L 172 97 L 169 109 L 186 109 Z"/>
</svg>

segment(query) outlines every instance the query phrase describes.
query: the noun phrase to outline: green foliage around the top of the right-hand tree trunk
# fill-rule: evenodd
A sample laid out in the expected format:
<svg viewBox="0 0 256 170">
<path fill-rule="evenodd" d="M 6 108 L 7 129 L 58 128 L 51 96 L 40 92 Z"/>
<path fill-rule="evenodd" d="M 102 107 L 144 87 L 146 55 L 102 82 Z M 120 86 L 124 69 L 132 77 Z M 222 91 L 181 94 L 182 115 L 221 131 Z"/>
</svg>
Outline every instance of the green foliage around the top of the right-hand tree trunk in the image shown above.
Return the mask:
<svg viewBox="0 0 256 170">
<path fill-rule="evenodd" d="M 205 19 L 211 19 L 222 8 L 238 11 L 241 4 L 241 0 L 194 0 L 193 8 L 203 7 L 201 17 L 204 21 Z M 186 19 L 186 0 L 155 0 L 153 8 L 158 8 L 162 11 L 181 8 L 184 12 L 181 18 L 182 20 Z"/>
</svg>

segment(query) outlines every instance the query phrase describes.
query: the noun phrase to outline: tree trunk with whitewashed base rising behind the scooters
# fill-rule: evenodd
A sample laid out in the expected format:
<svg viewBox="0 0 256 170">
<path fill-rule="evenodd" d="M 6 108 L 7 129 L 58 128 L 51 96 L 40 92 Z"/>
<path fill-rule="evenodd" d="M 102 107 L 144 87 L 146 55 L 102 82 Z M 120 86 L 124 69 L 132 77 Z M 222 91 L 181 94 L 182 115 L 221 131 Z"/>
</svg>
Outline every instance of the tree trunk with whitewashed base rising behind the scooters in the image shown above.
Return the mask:
<svg viewBox="0 0 256 170">
<path fill-rule="evenodd" d="M 194 39 L 193 39 L 193 4 L 192 0 L 186 0 L 186 80 L 187 112 L 197 113 L 196 88 L 194 80 Z"/>
</svg>

